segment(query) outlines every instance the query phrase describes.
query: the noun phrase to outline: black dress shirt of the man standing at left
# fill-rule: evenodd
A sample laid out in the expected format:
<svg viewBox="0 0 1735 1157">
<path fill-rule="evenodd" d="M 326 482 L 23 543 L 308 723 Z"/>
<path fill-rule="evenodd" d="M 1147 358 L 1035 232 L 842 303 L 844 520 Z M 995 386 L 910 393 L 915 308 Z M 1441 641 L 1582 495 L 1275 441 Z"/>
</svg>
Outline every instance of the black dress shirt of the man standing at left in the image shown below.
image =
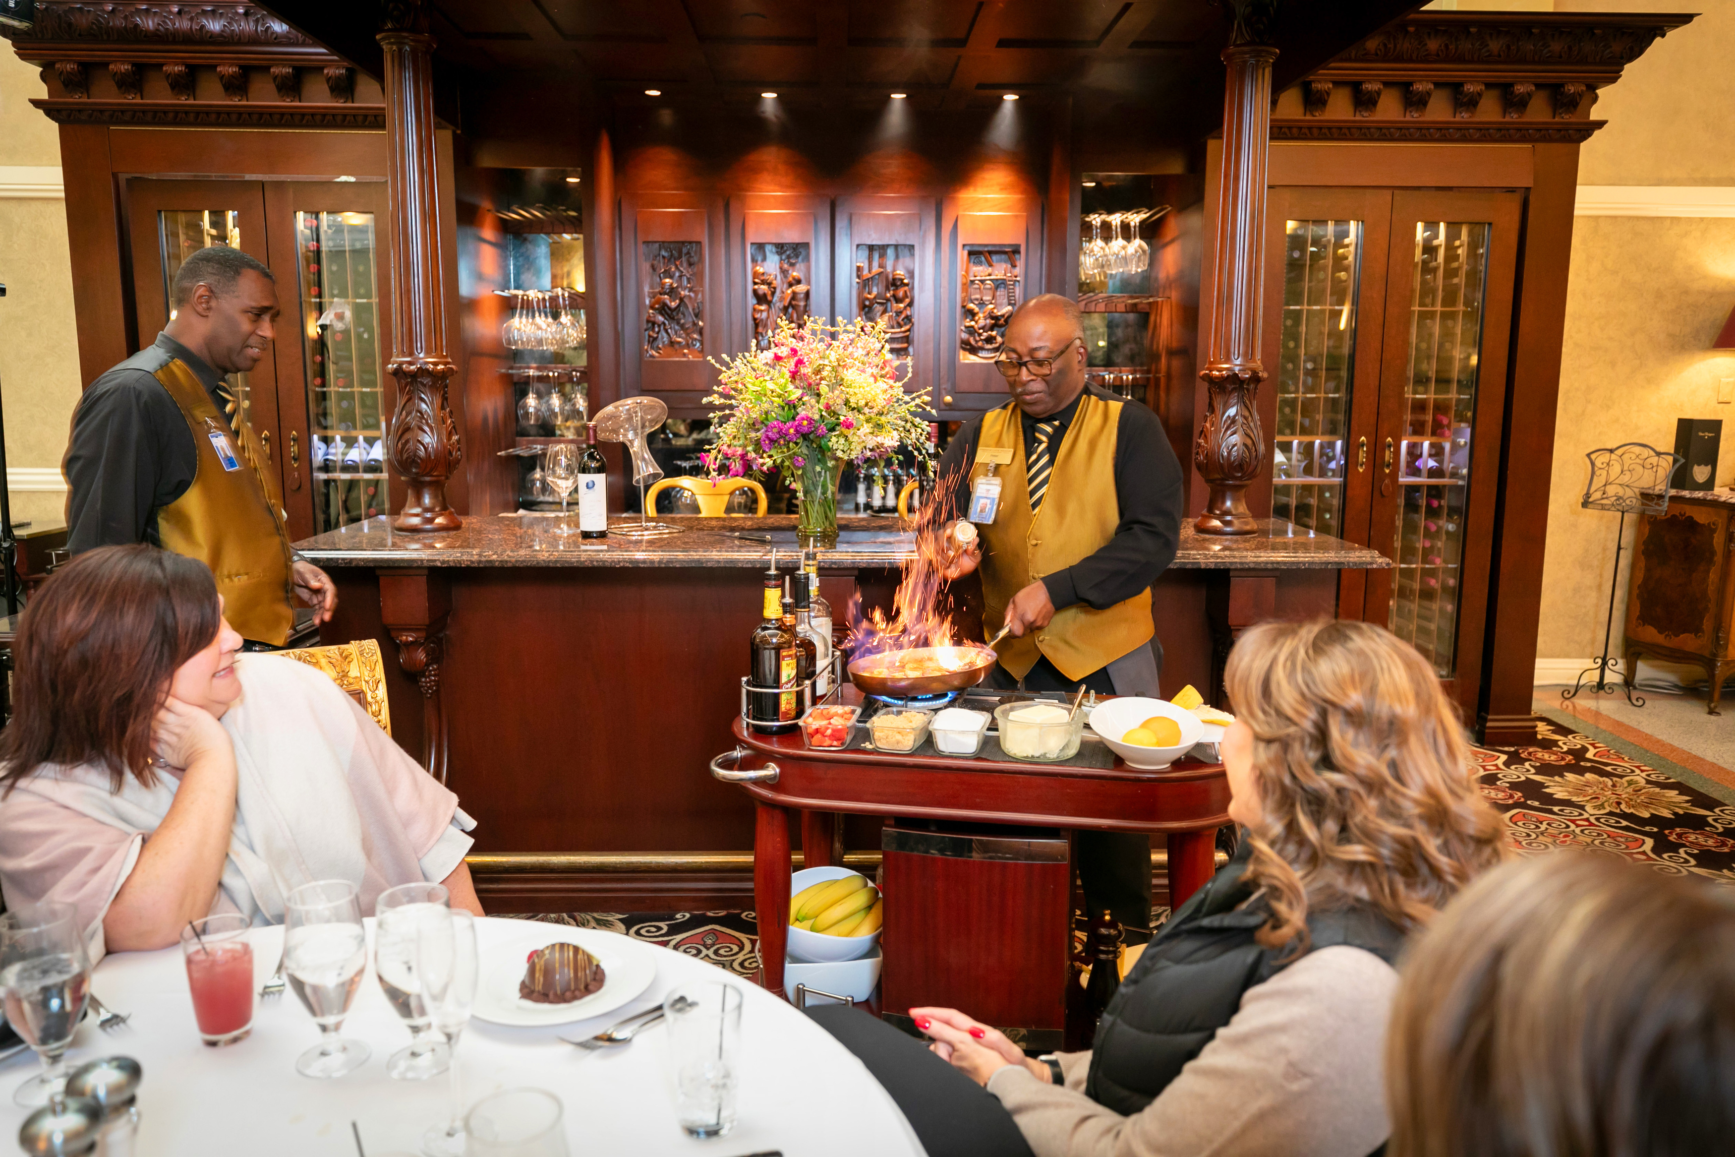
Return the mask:
<svg viewBox="0 0 1735 1157">
<path fill-rule="evenodd" d="M 156 380 L 174 359 L 193 369 L 217 413 L 229 413 L 224 376 L 167 333 L 92 382 L 73 413 L 62 463 L 73 553 L 127 543 L 161 546 L 156 512 L 187 493 L 200 465 L 180 406 Z"/>
</svg>

